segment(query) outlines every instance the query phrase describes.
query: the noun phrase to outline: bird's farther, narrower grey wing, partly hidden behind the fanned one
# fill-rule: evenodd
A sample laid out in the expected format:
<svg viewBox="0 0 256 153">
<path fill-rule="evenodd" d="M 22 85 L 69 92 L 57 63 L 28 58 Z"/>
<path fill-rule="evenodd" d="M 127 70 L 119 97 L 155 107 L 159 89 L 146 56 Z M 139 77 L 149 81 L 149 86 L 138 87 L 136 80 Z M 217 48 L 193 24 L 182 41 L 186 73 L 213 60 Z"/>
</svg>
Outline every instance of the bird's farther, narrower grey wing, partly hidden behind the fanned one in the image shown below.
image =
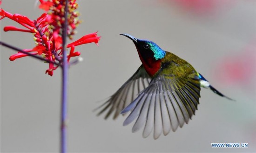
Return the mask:
<svg viewBox="0 0 256 153">
<path fill-rule="evenodd" d="M 141 65 L 135 74 L 130 77 L 128 81 L 115 92 L 115 94 L 110 96 L 107 102 L 98 107 L 101 108 L 98 115 L 101 115 L 103 112 L 108 110 L 108 113 L 105 115 L 105 119 L 107 119 L 113 112 L 115 112 L 113 119 L 116 119 L 120 115 L 121 110 L 134 101 L 143 89 L 148 87 L 150 81 L 151 77 Z"/>
</svg>

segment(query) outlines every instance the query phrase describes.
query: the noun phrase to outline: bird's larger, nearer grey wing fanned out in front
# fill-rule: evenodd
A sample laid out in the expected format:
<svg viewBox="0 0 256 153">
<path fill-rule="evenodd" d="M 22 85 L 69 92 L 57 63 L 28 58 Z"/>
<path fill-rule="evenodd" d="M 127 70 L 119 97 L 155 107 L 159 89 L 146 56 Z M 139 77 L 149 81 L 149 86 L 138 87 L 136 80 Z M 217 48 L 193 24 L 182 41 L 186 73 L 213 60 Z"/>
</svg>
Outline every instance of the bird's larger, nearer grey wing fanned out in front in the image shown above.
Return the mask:
<svg viewBox="0 0 256 153">
<path fill-rule="evenodd" d="M 132 132 L 138 131 L 144 125 L 143 137 L 148 137 L 154 129 L 154 139 L 162 131 L 167 135 L 172 129 L 182 127 L 184 122 L 195 115 L 200 97 L 200 79 L 196 74 L 187 78 L 159 75 L 150 82 L 148 88 L 121 113 L 132 112 L 123 125 L 128 125 L 136 118 Z"/>
</svg>

